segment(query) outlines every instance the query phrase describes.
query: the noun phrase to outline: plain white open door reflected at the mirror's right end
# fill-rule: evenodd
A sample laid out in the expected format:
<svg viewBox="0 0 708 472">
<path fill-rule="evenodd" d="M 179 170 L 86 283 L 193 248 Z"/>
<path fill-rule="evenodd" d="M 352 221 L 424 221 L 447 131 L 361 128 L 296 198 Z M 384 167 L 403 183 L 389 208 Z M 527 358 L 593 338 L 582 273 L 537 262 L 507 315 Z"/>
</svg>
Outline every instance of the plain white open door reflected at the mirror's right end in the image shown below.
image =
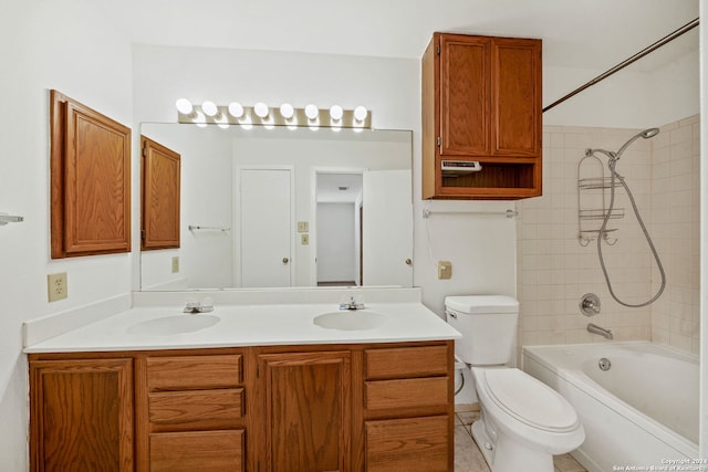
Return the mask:
<svg viewBox="0 0 708 472">
<path fill-rule="evenodd" d="M 363 252 L 366 285 L 413 285 L 410 170 L 364 174 Z"/>
</svg>

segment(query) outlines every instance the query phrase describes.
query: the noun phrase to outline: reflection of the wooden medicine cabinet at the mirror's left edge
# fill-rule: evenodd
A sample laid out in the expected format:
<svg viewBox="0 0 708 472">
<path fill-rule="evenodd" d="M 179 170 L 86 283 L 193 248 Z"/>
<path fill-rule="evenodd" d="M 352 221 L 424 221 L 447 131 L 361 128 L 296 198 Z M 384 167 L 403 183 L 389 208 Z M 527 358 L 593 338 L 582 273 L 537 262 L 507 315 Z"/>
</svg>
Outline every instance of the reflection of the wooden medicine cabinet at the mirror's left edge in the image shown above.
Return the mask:
<svg viewBox="0 0 708 472">
<path fill-rule="evenodd" d="M 143 192 L 140 249 L 179 248 L 179 183 L 181 157 L 140 136 Z"/>
</svg>

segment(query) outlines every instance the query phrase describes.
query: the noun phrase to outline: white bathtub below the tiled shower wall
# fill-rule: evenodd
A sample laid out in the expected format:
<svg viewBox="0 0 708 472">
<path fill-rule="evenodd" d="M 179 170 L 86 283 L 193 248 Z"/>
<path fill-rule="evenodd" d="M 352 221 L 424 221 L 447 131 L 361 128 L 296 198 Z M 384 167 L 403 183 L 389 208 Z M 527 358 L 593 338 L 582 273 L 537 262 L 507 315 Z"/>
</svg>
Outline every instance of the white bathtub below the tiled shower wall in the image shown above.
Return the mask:
<svg viewBox="0 0 708 472">
<path fill-rule="evenodd" d="M 586 439 L 572 454 L 590 472 L 696 464 L 697 356 L 648 342 L 528 346 L 523 370 L 575 407 Z"/>
</svg>

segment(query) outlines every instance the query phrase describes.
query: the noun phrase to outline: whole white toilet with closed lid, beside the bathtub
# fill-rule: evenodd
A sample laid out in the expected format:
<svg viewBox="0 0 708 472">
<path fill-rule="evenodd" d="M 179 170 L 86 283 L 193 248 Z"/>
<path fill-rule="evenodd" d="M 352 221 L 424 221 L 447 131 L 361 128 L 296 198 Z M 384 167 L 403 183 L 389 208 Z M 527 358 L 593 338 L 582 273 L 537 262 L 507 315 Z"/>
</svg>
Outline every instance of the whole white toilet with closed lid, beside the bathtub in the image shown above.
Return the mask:
<svg viewBox="0 0 708 472">
<path fill-rule="evenodd" d="M 585 440 L 575 409 L 555 390 L 508 367 L 519 302 L 501 295 L 448 296 L 447 322 L 462 334 L 456 355 L 471 365 L 481 416 L 472 437 L 492 472 L 552 472 L 553 455 Z"/>
</svg>

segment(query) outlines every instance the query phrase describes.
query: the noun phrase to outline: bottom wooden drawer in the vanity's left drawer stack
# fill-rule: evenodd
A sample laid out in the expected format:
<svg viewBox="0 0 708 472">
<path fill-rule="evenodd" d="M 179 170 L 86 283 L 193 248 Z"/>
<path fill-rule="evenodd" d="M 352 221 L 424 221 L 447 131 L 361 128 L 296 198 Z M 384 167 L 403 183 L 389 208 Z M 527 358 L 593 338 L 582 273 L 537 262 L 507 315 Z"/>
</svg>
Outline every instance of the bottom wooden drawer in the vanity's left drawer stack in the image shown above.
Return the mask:
<svg viewBox="0 0 708 472">
<path fill-rule="evenodd" d="M 150 472 L 242 471 L 244 431 L 150 434 Z"/>
</svg>

